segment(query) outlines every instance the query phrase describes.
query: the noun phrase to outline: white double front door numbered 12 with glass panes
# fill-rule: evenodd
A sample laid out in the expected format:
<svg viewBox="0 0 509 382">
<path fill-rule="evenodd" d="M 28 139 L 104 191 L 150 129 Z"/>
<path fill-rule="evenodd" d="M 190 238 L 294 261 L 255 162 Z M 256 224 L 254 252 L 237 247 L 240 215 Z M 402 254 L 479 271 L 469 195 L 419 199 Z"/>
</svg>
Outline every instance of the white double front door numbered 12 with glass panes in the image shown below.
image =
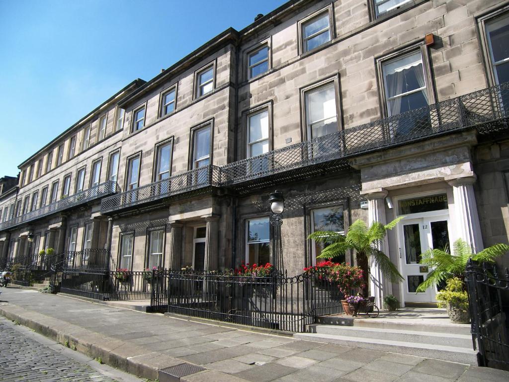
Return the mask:
<svg viewBox="0 0 509 382">
<path fill-rule="evenodd" d="M 417 286 L 429 274 L 420 264 L 421 254 L 430 249 L 449 248 L 449 219 L 447 215 L 403 220 L 400 225 L 400 264 L 404 278 L 405 303 L 436 302 L 436 287 L 417 293 Z"/>
</svg>

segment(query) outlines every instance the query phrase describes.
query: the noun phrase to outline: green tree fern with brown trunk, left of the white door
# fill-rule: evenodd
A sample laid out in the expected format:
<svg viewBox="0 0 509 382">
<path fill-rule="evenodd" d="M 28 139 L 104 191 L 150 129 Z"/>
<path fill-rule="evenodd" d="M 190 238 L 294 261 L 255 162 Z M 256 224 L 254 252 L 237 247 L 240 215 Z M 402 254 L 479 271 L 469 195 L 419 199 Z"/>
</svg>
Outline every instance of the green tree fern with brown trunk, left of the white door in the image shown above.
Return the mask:
<svg viewBox="0 0 509 382">
<path fill-rule="evenodd" d="M 382 275 L 390 279 L 391 282 L 403 281 L 398 268 L 390 261 L 386 254 L 378 249 L 379 244 L 387 235 L 387 231 L 394 228 L 404 216 L 394 219 L 387 225 L 373 222 L 370 227 L 364 221 L 358 219 L 349 227 L 346 235 L 332 231 L 315 231 L 308 236 L 317 242 L 329 244 L 318 258 L 334 258 L 344 255 L 347 250 L 354 250 L 357 265 L 362 269 L 364 278 L 364 287 L 362 294 L 367 296 L 367 286 L 369 285 L 369 262 L 370 259 L 382 271 Z"/>
</svg>

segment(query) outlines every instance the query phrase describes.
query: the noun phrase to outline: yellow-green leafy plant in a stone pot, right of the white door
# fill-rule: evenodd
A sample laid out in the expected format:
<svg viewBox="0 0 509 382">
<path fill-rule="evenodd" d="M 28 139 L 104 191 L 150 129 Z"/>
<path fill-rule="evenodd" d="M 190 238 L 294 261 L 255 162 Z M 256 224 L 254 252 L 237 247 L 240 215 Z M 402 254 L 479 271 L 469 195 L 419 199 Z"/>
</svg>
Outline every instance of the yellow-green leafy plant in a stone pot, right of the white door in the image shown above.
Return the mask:
<svg viewBox="0 0 509 382">
<path fill-rule="evenodd" d="M 468 293 L 463 290 L 463 282 L 457 277 L 448 279 L 444 290 L 437 293 L 437 305 L 445 308 L 451 322 L 470 322 Z"/>
</svg>

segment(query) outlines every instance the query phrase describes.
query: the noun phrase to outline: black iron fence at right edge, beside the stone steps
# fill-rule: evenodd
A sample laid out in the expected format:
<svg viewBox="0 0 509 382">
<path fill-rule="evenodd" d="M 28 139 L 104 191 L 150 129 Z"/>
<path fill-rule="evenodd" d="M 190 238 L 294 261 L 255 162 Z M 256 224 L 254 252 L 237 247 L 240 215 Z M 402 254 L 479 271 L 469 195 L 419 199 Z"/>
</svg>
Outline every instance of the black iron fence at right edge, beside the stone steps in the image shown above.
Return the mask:
<svg viewBox="0 0 509 382">
<path fill-rule="evenodd" d="M 469 260 L 465 281 L 478 364 L 509 371 L 509 307 L 503 304 L 509 300 L 509 270 L 500 276 L 496 267 Z"/>
</svg>

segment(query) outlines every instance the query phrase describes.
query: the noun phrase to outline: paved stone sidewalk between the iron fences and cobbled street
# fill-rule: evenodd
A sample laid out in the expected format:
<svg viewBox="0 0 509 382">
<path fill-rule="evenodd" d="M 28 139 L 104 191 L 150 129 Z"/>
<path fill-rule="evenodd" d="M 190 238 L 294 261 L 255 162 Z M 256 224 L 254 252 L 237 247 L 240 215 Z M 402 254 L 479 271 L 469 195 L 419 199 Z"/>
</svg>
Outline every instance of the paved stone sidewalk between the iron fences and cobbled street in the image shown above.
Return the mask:
<svg viewBox="0 0 509 382">
<path fill-rule="evenodd" d="M 207 370 L 182 381 L 509 380 L 509 372 L 495 369 L 254 333 L 29 290 L 2 290 L 4 316 L 152 379 L 159 368 L 190 363 Z"/>
</svg>

